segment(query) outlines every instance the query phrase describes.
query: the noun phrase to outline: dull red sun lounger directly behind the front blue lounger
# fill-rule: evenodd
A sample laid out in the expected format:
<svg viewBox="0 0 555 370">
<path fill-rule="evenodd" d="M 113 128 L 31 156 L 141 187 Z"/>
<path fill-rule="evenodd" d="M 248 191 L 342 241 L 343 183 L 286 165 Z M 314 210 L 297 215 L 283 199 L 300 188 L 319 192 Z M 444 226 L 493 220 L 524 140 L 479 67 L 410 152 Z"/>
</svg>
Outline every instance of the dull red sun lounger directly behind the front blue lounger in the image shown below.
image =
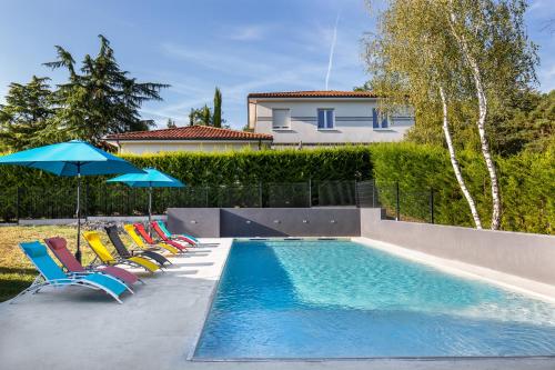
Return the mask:
<svg viewBox="0 0 555 370">
<path fill-rule="evenodd" d="M 49 238 L 44 239 L 48 248 L 52 251 L 52 253 L 58 258 L 58 260 L 62 263 L 62 266 L 72 273 L 91 273 L 91 272 L 100 272 L 105 273 L 117 279 L 120 279 L 128 286 L 134 284 L 140 279 L 132 272 L 120 269 L 115 266 L 95 266 L 85 268 L 83 267 L 73 253 L 68 249 L 68 242 L 63 238 Z M 142 281 L 141 281 L 142 282 Z"/>
</svg>

